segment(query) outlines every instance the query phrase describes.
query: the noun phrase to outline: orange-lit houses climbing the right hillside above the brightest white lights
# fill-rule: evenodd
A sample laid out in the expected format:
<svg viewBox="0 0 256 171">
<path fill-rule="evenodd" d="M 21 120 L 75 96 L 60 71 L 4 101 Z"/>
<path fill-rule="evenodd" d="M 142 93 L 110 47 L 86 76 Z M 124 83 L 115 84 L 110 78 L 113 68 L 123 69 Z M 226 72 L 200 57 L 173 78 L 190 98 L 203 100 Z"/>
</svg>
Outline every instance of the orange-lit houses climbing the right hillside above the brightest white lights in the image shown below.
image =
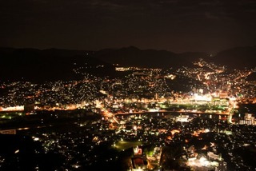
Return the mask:
<svg viewBox="0 0 256 171">
<path fill-rule="evenodd" d="M 201 87 L 206 93 L 226 92 L 233 97 L 243 97 L 254 101 L 254 80 L 247 78 L 256 72 L 255 68 L 229 70 L 226 66 L 216 66 L 202 59 L 194 62 L 194 66 L 198 67 L 182 67 L 174 71 L 174 74 L 200 82 L 199 88 Z M 193 88 L 194 86 L 191 85 L 191 89 Z"/>
</svg>

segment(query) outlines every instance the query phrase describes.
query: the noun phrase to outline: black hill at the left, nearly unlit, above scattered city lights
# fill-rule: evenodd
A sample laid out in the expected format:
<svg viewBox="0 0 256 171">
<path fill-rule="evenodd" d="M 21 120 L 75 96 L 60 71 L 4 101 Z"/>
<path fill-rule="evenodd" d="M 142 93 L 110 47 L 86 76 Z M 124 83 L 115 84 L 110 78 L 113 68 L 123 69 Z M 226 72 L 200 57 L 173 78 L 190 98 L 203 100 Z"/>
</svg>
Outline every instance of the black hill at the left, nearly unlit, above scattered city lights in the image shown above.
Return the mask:
<svg viewBox="0 0 256 171">
<path fill-rule="evenodd" d="M 73 69 L 86 66 L 105 66 L 102 70 L 97 70 L 104 74 L 114 71 L 112 65 L 93 58 L 91 54 L 91 51 L 83 50 L 0 48 L 0 81 L 74 80 L 81 75 L 74 74 Z M 93 69 L 87 71 L 98 74 Z"/>
</svg>

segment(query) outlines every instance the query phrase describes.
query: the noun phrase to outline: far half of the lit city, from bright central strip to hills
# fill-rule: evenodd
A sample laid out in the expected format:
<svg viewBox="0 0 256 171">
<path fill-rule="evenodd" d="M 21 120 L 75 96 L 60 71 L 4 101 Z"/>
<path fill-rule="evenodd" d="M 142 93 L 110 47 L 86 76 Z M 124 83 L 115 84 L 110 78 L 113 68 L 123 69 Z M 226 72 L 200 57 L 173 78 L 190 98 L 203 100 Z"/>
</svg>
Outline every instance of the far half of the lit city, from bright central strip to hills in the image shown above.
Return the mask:
<svg viewBox="0 0 256 171">
<path fill-rule="evenodd" d="M 109 96 L 120 100 L 173 97 L 174 100 L 185 101 L 188 98 L 200 100 L 199 97 L 207 95 L 212 97 L 213 94 L 219 94 L 220 97 L 221 94 L 226 94 L 227 98 L 235 97 L 241 102 L 255 102 L 255 84 L 246 80 L 250 74 L 255 73 L 255 70 L 230 72 L 226 67 L 199 60 L 194 62 L 193 68 L 160 70 L 117 67 L 116 72 L 125 74 L 109 78 L 82 73 L 81 80 L 42 84 L 2 82 L 0 109 L 8 110 L 10 107 L 31 104 L 37 109 L 75 109 L 93 105 L 95 100 L 106 99 Z"/>
</svg>

